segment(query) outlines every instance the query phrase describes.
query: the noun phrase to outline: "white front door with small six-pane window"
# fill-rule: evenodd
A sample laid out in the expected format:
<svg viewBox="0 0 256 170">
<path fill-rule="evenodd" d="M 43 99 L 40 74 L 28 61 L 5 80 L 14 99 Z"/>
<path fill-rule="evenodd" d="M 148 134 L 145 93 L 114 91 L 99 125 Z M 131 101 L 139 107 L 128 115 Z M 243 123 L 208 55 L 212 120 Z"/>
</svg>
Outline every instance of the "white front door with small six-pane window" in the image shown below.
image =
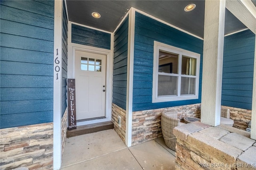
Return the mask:
<svg viewBox="0 0 256 170">
<path fill-rule="evenodd" d="M 106 117 L 106 55 L 76 50 L 76 120 Z"/>
</svg>

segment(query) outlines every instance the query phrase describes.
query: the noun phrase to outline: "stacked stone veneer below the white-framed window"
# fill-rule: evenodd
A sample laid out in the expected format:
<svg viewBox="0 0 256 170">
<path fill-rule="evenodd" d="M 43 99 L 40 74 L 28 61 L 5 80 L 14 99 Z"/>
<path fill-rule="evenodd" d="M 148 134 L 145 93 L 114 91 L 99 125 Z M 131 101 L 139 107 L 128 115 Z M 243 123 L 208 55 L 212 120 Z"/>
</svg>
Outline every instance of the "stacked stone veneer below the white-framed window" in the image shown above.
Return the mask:
<svg viewBox="0 0 256 170">
<path fill-rule="evenodd" d="M 201 104 L 168 107 L 162 109 L 136 111 L 132 113 L 132 145 L 140 144 L 162 136 L 162 111 L 177 111 L 178 117 L 198 117 L 201 114 Z"/>
</svg>

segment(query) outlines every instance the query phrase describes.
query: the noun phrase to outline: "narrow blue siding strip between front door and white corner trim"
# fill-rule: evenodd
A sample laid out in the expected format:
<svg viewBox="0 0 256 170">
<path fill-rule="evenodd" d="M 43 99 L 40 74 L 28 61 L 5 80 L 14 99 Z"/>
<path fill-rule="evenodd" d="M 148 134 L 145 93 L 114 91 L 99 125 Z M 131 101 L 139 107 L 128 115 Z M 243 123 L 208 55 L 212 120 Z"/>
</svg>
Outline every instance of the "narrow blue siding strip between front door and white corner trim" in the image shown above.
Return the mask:
<svg viewBox="0 0 256 170">
<path fill-rule="evenodd" d="M 128 17 L 114 34 L 113 103 L 126 110 Z"/>
</svg>

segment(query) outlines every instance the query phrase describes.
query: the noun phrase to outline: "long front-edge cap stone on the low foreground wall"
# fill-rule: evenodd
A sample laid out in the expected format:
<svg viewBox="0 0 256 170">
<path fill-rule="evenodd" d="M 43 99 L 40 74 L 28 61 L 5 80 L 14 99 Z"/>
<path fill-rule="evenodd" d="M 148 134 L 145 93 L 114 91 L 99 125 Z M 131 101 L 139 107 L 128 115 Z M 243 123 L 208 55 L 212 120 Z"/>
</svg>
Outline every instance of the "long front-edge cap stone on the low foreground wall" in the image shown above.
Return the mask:
<svg viewBox="0 0 256 170">
<path fill-rule="evenodd" d="M 236 162 L 236 158 L 242 153 L 242 150 L 200 132 L 189 134 L 187 143 L 225 164 Z"/>
</svg>

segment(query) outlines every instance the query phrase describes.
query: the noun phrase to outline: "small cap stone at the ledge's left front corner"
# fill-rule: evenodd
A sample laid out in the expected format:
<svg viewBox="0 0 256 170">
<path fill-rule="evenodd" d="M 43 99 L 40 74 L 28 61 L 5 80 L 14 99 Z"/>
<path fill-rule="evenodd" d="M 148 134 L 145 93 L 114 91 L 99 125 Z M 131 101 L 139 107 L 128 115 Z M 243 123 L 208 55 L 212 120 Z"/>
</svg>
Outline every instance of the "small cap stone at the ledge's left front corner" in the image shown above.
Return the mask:
<svg viewBox="0 0 256 170">
<path fill-rule="evenodd" d="M 188 123 L 185 125 L 181 125 L 178 127 L 175 127 L 173 129 L 173 134 L 179 138 L 180 140 L 187 141 L 187 137 L 189 134 L 192 134 L 194 132 L 198 132 L 199 130 L 203 130 L 203 127 L 200 127 L 193 123 Z"/>
</svg>

